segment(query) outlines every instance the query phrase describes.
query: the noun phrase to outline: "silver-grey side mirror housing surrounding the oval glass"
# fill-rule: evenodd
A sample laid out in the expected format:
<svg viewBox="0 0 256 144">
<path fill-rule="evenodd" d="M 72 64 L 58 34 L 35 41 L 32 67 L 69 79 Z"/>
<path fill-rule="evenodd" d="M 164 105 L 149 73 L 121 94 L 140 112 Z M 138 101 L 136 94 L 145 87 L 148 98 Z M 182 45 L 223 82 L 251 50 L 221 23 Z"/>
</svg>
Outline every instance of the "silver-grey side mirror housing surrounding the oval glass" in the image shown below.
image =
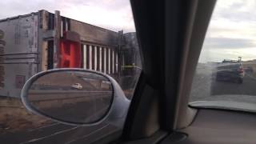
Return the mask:
<svg viewBox="0 0 256 144">
<path fill-rule="evenodd" d="M 46 114 L 44 112 L 42 112 L 42 110 L 39 110 L 38 107 L 33 106 L 30 102 L 30 98 L 29 98 L 29 94 L 30 94 L 30 88 L 31 86 L 33 86 L 34 82 L 36 82 L 39 78 L 42 78 L 44 76 L 46 76 L 47 74 L 60 74 L 60 73 L 70 73 L 70 74 L 75 74 L 75 73 L 79 73 L 79 74 L 94 74 L 94 75 L 98 75 L 100 77 L 106 78 L 111 86 L 113 90 L 113 94 L 112 94 L 112 98 L 111 98 L 111 103 L 109 106 L 109 109 L 106 111 L 106 114 L 103 114 L 102 118 L 99 118 L 97 121 L 95 122 L 81 122 L 81 121 L 66 121 L 64 118 L 56 118 L 54 117 L 53 114 Z M 79 86 L 78 83 L 74 84 L 75 88 L 80 89 L 82 86 Z M 104 91 L 103 91 L 104 94 Z M 94 126 L 94 125 L 98 125 L 102 122 L 107 122 L 110 123 L 114 126 L 120 126 L 122 127 L 122 125 L 125 122 L 126 119 L 126 114 L 130 105 L 130 100 L 128 100 L 125 96 L 125 94 L 123 93 L 121 87 L 118 85 L 118 82 L 116 82 L 114 80 L 114 78 L 111 78 L 109 75 L 106 74 L 102 74 L 98 71 L 94 71 L 94 70 L 84 70 L 84 69 L 54 69 L 54 70 L 47 70 L 47 71 L 43 71 L 41 73 L 35 74 L 33 77 L 31 77 L 26 84 L 23 86 L 22 88 L 22 93 L 21 93 L 21 98 L 22 98 L 22 103 L 24 104 L 24 106 L 26 107 L 27 110 L 30 110 L 32 113 L 34 114 L 38 114 L 38 115 L 42 115 L 43 117 L 46 118 L 50 118 L 54 121 L 57 122 L 62 122 L 64 124 L 68 124 L 68 125 L 74 125 L 74 126 Z"/>
</svg>

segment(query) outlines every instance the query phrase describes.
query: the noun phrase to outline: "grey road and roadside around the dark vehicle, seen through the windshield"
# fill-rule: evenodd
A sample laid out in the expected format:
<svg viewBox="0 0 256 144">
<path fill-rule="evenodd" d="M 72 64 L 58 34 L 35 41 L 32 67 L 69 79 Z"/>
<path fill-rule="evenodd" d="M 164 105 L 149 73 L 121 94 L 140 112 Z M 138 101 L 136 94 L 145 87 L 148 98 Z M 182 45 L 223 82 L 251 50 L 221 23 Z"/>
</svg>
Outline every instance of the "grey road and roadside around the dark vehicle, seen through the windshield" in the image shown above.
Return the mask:
<svg viewBox="0 0 256 144">
<path fill-rule="evenodd" d="M 214 70 L 207 66 L 198 68 L 190 94 L 194 101 L 234 101 L 256 103 L 256 78 L 246 73 L 242 84 L 231 81 L 217 82 Z"/>
</svg>

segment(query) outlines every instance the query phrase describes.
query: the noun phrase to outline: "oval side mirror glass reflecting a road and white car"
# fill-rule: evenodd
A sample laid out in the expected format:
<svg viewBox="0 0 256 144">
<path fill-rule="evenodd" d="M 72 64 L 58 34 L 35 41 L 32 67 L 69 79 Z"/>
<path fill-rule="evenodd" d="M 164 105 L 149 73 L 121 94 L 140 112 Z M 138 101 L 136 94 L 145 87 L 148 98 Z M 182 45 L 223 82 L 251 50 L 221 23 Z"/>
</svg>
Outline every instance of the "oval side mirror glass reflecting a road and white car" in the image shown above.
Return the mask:
<svg viewBox="0 0 256 144">
<path fill-rule="evenodd" d="M 88 71 L 56 71 L 42 75 L 30 86 L 27 101 L 43 115 L 65 122 L 99 121 L 110 109 L 111 82 Z"/>
</svg>

